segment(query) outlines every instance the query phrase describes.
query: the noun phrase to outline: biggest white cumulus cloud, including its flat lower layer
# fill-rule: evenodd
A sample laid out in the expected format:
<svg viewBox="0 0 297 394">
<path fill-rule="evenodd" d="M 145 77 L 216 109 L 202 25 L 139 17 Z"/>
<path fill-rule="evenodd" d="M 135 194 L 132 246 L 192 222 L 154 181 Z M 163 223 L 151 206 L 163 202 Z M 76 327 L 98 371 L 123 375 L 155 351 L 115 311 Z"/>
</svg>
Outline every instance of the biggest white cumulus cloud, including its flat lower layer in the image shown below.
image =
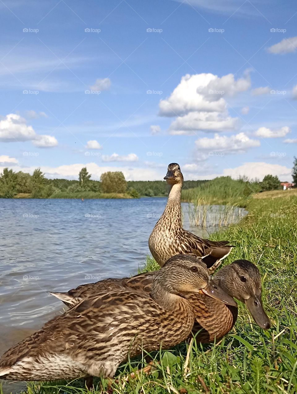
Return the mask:
<svg viewBox="0 0 297 394">
<path fill-rule="evenodd" d="M 238 118 L 227 111 L 225 96 L 234 96 L 250 87 L 250 78 L 235 80 L 233 74 L 186 74 L 171 95 L 159 102 L 159 115 L 177 117 L 169 126 L 171 134 L 192 134 L 195 131 L 231 131 L 238 127 Z"/>
</svg>

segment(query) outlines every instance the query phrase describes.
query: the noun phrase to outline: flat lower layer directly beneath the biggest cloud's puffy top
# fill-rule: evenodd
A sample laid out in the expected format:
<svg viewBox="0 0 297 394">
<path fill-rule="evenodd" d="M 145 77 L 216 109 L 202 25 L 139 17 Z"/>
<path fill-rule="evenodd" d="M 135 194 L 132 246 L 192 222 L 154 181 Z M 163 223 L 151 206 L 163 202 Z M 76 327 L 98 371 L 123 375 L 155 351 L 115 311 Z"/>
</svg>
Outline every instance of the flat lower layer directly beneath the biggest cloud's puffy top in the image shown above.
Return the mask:
<svg viewBox="0 0 297 394">
<path fill-rule="evenodd" d="M 233 131 L 237 129 L 238 118 L 218 112 L 189 112 L 177 117 L 169 126 L 170 134 L 194 134 L 195 131 Z"/>
</svg>

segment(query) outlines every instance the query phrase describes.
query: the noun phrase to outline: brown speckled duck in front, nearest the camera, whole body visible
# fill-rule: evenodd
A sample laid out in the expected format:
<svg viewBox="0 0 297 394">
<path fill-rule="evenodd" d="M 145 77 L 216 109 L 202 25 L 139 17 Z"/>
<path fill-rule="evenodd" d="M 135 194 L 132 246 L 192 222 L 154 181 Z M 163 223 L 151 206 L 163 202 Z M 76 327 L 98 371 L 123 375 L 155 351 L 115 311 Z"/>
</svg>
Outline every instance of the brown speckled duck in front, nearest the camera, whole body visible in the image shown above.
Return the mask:
<svg viewBox="0 0 297 394">
<path fill-rule="evenodd" d="M 123 288 L 83 299 L 6 351 L 0 378 L 111 378 L 128 355 L 188 338 L 194 325 L 194 310 L 184 297 L 189 292 L 228 297 L 203 262 L 175 256 L 154 276 L 150 297 Z"/>
</svg>

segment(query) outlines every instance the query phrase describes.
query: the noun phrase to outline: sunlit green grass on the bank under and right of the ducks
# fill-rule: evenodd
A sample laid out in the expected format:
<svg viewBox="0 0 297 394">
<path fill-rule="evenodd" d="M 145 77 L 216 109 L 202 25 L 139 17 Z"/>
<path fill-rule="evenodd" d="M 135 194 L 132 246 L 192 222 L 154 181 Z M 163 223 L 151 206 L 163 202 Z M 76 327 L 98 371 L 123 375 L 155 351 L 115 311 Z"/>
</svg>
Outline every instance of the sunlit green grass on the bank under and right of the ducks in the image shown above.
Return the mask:
<svg viewBox="0 0 297 394">
<path fill-rule="evenodd" d="M 159 361 L 152 374 L 136 374 L 141 359 L 122 365 L 113 380 L 96 392 L 280 394 L 297 392 L 297 197 L 252 199 L 249 214 L 212 240 L 227 239 L 236 246 L 224 264 L 238 258 L 251 260 L 263 276 L 263 298 L 273 329 L 261 330 L 243 306 L 233 330 L 218 344 L 180 344 L 154 353 Z M 157 269 L 148 259 L 145 269 Z M 188 361 L 186 356 L 188 354 Z M 117 379 L 117 380 L 116 380 Z M 95 380 L 98 385 L 100 379 Z M 82 381 L 42 383 L 30 394 L 86 394 Z"/>
</svg>

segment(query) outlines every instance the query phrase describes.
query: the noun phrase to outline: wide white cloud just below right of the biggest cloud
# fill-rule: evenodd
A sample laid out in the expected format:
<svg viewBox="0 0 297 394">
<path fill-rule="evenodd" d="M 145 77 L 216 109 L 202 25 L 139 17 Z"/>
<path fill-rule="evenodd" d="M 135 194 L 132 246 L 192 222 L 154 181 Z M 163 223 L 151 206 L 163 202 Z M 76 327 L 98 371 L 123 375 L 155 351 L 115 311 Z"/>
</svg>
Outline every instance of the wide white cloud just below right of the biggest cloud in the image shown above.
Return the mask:
<svg viewBox="0 0 297 394">
<path fill-rule="evenodd" d="M 230 137 L 215 134 L 214 138 L 199 138 L 195 141 L 198 150 L 235 153 L 244 152 L 249 148 L 259 147 L 260 141 L 250 139 L 246 134 L 239 133 Z"/>
</svg>

